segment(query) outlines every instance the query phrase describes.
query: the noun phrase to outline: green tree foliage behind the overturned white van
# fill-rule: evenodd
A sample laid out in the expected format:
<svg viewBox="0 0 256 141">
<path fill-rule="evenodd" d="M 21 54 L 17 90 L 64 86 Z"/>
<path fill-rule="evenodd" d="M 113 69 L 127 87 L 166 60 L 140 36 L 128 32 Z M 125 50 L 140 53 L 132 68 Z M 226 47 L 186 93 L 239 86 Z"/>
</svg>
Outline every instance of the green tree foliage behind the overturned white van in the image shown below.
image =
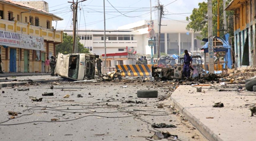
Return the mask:
<svg viewBox="0 0 256 141">
<path fill-rule="evenodd" d="M 90 53 L 89 49 L 85 48 L 83 44 L 79 42 L 79 38 L 77 38 L 78 41 L 78 52 L 79 53 Z M 61 44 L 58 44 L 56 46 L 56 54 L 63 53 L 63 54 L 70 54 L 73 53 L 73 37 L 67 35 L 67 33 L 63 33 L 63 42 Z"/>
</svg>

